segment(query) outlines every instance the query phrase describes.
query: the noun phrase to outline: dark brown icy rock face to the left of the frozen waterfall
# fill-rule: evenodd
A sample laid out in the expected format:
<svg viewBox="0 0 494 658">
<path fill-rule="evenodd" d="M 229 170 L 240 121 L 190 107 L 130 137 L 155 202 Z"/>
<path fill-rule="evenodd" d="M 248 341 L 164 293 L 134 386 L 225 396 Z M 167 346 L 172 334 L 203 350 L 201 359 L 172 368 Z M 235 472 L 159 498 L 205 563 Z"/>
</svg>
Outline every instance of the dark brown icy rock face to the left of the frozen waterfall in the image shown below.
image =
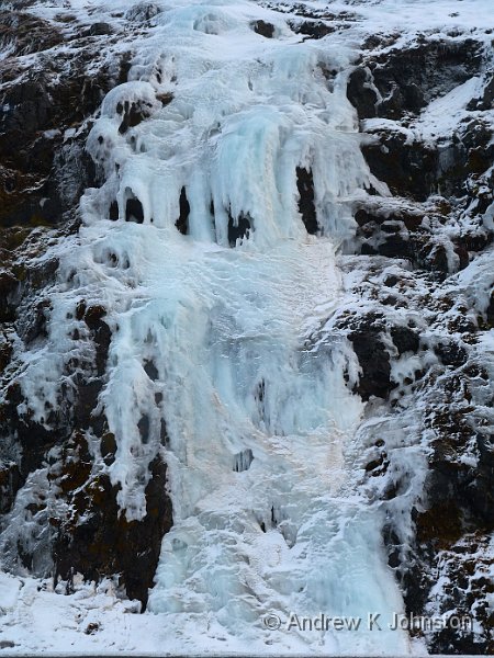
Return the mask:
<svg viewBox="0 0 494 658">
<path fill-rule="evenodd" d="M 44 423 L 23 410 L 19 385 L 20 356 L 46 341 L 50 321 L 58 261 L 45 253 L 77 231 L 79 198 L 99 184 L 85 145 L 103 97 L 126 80 L 130 54 L 114 53 L 119 37 L 105 23 L 83 27 L 63 12 L 47 21 L 27 4 L 0 12 L 2 546 L 13 570 L 61 578 L 68 590 L 77 572 L 96 581 L 119 575 L 144 610 L 171 504 L 158 454 L 148 465 L 146 515 L 127 521 L 116 502 L 109 475 L 114 439 L 98 407 L 112 336 L 104 307 L 80 300 L 75 308 L 81 328 L 72 338 L 86 342 L 87 356 L 67 363 L 60 399 L 47 404 Z M 150 4 L 141 10 L 128 21 L 156 15 Z M 122 114 L 123 129 L 141 116 L 134 107 Z M 9 530 L 13 521 L 32 532 Z"/>
</svg>

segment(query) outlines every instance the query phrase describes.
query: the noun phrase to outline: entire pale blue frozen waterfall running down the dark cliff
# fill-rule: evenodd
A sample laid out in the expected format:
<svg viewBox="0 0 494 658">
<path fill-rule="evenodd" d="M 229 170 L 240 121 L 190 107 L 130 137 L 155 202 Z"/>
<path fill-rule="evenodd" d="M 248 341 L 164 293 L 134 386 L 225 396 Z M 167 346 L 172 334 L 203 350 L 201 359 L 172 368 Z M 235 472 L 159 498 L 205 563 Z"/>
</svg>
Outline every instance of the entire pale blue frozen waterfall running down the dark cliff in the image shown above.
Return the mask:
<svg viewBox="0 0 494 658">
<path fill-rule="evenodd" d="M 175 525 L 149 609 L 168 613 L 167 650 L 407 653 L 402 633 L 364 627 L 369 612 L 388 621 L 403 602 L 385 564 L 383 512 L 353 489 L 348 455 L 363 405 L 344 372 L 356 362 L 344 342 L 306 338 L 341 299 L 335 249 L 351 234 L 352 196 L 370 182 L 346 98 L 352 53 L 338 35 L 302 43 L 280 14 L 249 3 L 164 9 L 133 81 L 108 94 L 89 137 L 106 182 L 82 200 L 79 246 L 61 268 L 72 280 L 52 322 L 55 353 L 71 349 L 61 319 L 75 294 L 109 309 L 101 405 L 128 518 L 145 512 L 158 450 L 169 466 Z M 259 18 L 274 23 L 274 38 L 249 26 Z M 166 92 L 173 100 L 162 106 Z M 137 99 L 151 116 L 122 135 L 119 103 Z M 302 223 L 296 167 L 313 171 L 323 237 Z M 188 236 L 175 226 L 182 186 Z M 124 220 L 131 196 L 143 224 Z M 108 219 L 113 198 L 117 222 Z M 234 248 L 228 211 L 252 224 Z M 35 363 L 32 372 L 24 387 L 35 397 Z M 326 634 L 262 627 L 262 615 L 291 612 L 363 622 Z"/>
</svg>

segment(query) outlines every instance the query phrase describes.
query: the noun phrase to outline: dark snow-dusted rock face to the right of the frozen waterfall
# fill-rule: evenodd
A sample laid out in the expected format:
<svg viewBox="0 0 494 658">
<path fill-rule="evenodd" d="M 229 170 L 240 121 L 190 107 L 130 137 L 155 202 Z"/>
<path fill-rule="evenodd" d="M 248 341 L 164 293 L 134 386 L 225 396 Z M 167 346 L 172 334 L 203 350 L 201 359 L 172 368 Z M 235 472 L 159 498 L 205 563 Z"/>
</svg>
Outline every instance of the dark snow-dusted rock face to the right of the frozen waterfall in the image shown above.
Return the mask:
<svg viewBox="0 0 494 658">
<path fill-rule="evenodd" d="M 490 57 L 479 42 L 458 35 L 441 42 L 418 35 L 406 48 L 375 35 L 348 82 L 369 135 L 366 159 L 392 196 L 374 193 L 358 204 L 356 251 L 374 261 L 361 293 L 373 299 L 373 310 L 339 325 L 359 360 L 356 390 L 363 399 L 389 400 L 395 432 L 396 415 L 415 406 L 407 418 L 419 429 L 406 431 L 427 438 L 428 470 L 415 491 L 408 531 L 394 519 L 384 540 L 408 612 L 473 617 L 476 628 L 426 632 L 429 650 L 445 654 L 494 650 L 487 566 L 493 364 L 482 347 L 492 328 L 494 282 L 487 265 L 494 207 Z M 429 104 L 472 77 L 481 86 L 464 100 L 454 128 L 427 125 Z M 469 264 L 465 272 L 479 268 L 485 277 L 479 285 L 472 275 L 456 274 Z M 366 477 L 398 509 L 411 474 L 397 465 L 391 438 L 378 445 Z M 377 485 L 380 479 L 386 484 Z"/>
</svg>

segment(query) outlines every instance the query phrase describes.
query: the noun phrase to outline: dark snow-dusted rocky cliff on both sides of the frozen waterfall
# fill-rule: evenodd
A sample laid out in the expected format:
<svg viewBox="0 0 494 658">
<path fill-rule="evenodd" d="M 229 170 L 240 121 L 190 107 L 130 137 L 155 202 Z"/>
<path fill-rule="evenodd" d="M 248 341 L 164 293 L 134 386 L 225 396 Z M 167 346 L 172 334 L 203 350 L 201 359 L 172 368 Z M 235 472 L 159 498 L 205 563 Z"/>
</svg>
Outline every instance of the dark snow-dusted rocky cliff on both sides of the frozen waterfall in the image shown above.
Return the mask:
<svg viewBox="0 0 494 658">
<path fill-rule="evenodd" d="M 139 420 L 145 513 L 126 513 L 111 470 L 121 439 L 102 402 L 119 326 L 104 291 L 96 303 L 99 292 L 89 286 L 66 317 L 54 317 L 54 308 L 78 276 L 67 271 L 67 254 L 78 245 L 81 195 L 110 175 L 112 145 L 101 137 L 100 150 L 92 149 L 101 157 L 91 158 L 88 135 L 106 92 L 149 78 L 135 52 L 167 8 L 70 4 L 18 0 L 0 16 L 2 569 L 25 590 L 31 577 L 45 589 L 53 579 L 68 600 L 82 591 L 82 579 L 110 578 L 117 598 L 145 610 L 175 513 L 162 377 L 143 354 L 162 412 Z M 346 94 L 373 182 L 350 200 L 355 222 L 337 261 L 344 302 L 311 329 L 306 349 L 323 354 L 345 341 L 351 351 L 347 388 L 366 404 L 356 433 L 359 487 L 385 511 L 382 541 L 406 611 L 474 622 L 412 635 L 430 653 L 492 654 L 494 25 L 483 19 L 486 4 L 471 0 L 458 20 L 456 3 L 442 2 L 428 22 L 414 27 L 416 20 L 404 16 L 402 30 L 396 19 L 386 29 L 385 7 L 380 14 L 374 4 L 252 5 L 259 18 L 251 29 L 265 39 L 280 38 L 282 24 L 301 44 L 348 35 L 356 54 Z M 319 68 L 330 89 L 336 72 Z M 165 69 L 153 76 L 165 77 Z M 173 93 L 122 103 L 120 134 L 131 136 Z M 300 218 L 307 234 L 322 237 L 316 185 L 311 167 L 296 169 Z M 120 211 L 119 219 L 109 198 L 111 220 L 145 218 L 136 197 Z M 181 234 L 190 211 L 182 188 Z M 231 246 L 248 237 L 250 222 L 229 214 Z M 122 254 L 109 258 L 124 266 Z M 33 363 L 43 368 L 54 322 L 67 324 L 71 347 L 54 373 L 56 396 L 40 401 L 24 375 Z M 237 470 L 249 467 L 246 455 Z M 98 637 L 100 619 L 86 619 L 81 629 Z M 0 646 L 27 646 L 22 635 L 11 639 L 9 627 L 11 621 Z"/>
</svg>

